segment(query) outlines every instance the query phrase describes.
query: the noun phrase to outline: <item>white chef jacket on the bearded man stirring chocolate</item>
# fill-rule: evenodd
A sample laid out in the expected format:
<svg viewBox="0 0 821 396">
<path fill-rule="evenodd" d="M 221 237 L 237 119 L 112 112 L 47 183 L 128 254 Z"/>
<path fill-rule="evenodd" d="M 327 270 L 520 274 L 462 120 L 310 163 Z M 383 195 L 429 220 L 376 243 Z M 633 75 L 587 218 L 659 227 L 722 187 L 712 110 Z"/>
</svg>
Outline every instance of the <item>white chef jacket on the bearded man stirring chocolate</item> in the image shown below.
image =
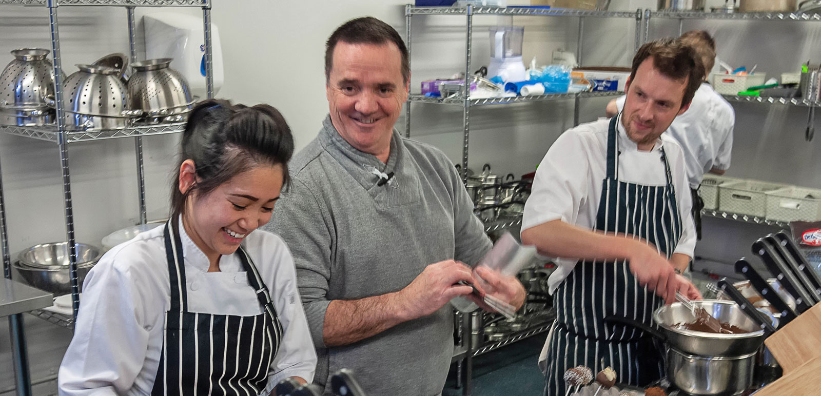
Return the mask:
<svg viewBox="0 0 821 396">
<path fill-rule="evenodd" d="M 593 229 L 599 211 L 603 180 L 607 177 L 607 143 L 610 120 L 599 120 L 572 128 L 559 136 L 545 154 L 533 181 L 533 192 L 525 203 L 521 229 L 553 220 Z M 690 214 L 692 200 L 684 164 L 684 153 L 675 140 L 662 135 L 653 150 L 640 151 L 630 140 L 621 122 L 618 125 L 618 177 L 621 182 L 644 186 L 664 186 L 667 175 L 661 149 L 670 163 L 672 183 L 684 227 L 674 253 L 692 257 L 695 225 Z M 557 269 L 548 278 L 550 292 L 576 266 L 577 258 L 558 258 Z"/>
</svg>

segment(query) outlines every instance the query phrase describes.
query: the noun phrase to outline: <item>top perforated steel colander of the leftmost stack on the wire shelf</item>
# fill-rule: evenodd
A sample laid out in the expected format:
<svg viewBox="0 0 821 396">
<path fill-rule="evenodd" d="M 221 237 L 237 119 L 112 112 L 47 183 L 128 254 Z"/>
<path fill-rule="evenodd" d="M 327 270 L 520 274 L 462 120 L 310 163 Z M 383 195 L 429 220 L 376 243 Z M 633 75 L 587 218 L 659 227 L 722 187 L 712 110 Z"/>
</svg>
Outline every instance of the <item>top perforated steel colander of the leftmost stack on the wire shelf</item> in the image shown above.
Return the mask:
<svg viewBox="0 0 821 396">
<path fill-rule="evenodd" d="M 0 108 L 33 111 L 48 108 L 54 94 L 54 69 L 46 58 L 48 49 L 20 48 L 11 51 L 14 60 L 0 74 Z"/>
</svg>

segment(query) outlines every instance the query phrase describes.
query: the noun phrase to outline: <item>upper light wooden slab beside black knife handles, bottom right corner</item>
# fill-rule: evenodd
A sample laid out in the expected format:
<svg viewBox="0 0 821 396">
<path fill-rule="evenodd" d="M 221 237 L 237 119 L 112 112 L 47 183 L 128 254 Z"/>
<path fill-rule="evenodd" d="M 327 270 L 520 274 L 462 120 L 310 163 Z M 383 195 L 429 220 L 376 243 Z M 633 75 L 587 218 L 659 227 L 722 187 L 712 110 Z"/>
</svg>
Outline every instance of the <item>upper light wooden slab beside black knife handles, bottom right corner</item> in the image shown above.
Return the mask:
<svg viewBox="0 0 821 396">
<path fill-rule="evenodd" d="M 764 344 L 782 366 L 785 375 L 803 366 L 807 361 L 821 357 L 821 304 L 816 304 L 782 329 L 778 329 L 764 341 Z M 816 389 L 816 392 L 818 391 Z"/>
</svg>

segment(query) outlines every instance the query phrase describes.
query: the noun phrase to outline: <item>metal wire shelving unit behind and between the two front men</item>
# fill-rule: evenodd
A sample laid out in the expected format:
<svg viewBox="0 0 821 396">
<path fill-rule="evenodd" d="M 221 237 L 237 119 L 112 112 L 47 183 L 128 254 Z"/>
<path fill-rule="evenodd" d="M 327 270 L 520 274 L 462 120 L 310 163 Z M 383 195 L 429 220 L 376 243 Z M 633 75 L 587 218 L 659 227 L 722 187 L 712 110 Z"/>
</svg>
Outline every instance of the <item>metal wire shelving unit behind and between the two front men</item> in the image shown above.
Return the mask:
<svg viewBox="0 0 821 396">
<path fill-rule="evenodd" d="M 576 59 L 582 63 L 581 58 L 581 43 L 584 37 L 585 18 L 625 18 L 635 20 L 635 49 L 638 49 L 642 43 L 640 34 L 642 31 L 642 22 L 644 21 L 644 14 L 642 10 L 635 12 L 608 12 L 608 11 L 587 11 L 587 10 L 573 10 L 573 9 L 543 9 L 530 7 L 414 7 L 406 6 L 406 46 L 408 52 L 411 53 L 412 48 L 412 17 L 413 16 L 462 16 L 465 18 L 465 75 L 471 75 L 470 61 L 472 52 L 472 35 L 473 35 L 473 17 L 474 16 L 557 16 L 557 17 L 577 17 L 579 18 L 579 35 L 578 44 L 576 46 Z M 544 94 L 536 96 L 525 97 L 510 97 L 510 98 L 488 98 L 488 99 L 471 99 L 469 88 L 465 87 L 459 98 L 427 98 L 420 94 L 411 94 L 406 103 L 406 136 L 410 136 L 410 111 L 411 104 L 443 104 L 449 106 L 460 106 L 462 108 L 462 126 L 463 126 L 463 147 L 462 147 L 462 177 L 467 180 L 467 163 L 468 151 L 470 146 L 470 108 L 475 106 L 503 106 L 507 104 L 521 104 L 532 102 L 545 102 L 553 100 L 569 100 L 575 101 L 574 111 L 574 125 L 579 124 L 579 109 L 580 99 L 585 98 L 600 98 L 618 96 L 622 92 L 582 92 L 582 93 L 568 93 L 568 94 Z M 502 231 L 506 228 L 514 228 L 521 225 L 520 219 L 506 219 L 496 223 L 485 224 L 485 232 L 492 233 Z M 460 334 L 470 334 L 470 320 L 463 320 L 460 328 Z M 457 371 L 463 373 L 464 380 L 460 382 L 464 384 L 462 390 L 463 394 L 469 395 L 472 391 L 472 359 L 481 353 L 489 352 L 496 348 L 502 348 L 507 344 L 514 343 L 518 340 L 532 337 L 536 334 L 542 334 L 548 329 L 548 326 L 536 326 L 533 329 L 527 329 L 518 334 L 513 334 L 510 338 L 506 338 L 498 343 L 474 346 L 470 345 L 470 337 L 465 337 L 465 342 L 458 346 L 454 352 L 454 361 L 457 362 Z"/>
</svg>

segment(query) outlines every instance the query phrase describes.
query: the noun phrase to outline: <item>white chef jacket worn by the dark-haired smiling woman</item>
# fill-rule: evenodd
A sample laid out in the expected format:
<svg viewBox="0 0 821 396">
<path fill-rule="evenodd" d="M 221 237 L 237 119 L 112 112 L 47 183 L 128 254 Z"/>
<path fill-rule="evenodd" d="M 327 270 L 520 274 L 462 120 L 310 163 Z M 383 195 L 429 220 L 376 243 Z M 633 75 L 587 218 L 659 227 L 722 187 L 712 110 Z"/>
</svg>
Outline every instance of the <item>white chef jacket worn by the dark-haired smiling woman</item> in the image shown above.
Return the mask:
<svg viewBox="0 0 821 396">
<path fill-rule="evenodd" d="M 171 307 L 163 229 L 154 228 L 117 245 L 89 271 L 74 338 L 60 365 L 59 394 L 151 394 L 163 348 L 164 315 Z M 181 222 L 179 231 L 188 311 L 261 314 L 238 253 L 220 257 L 220 272 L 208 272 L 208 258 Z M 263 230 L 250 233 L 242 243 L 268 287 L 284 329 L 264 394 L 291 376 L 310 383 L 316 352 L 296 289 L 291 251 L 282 238 Z"/>
</svg>

